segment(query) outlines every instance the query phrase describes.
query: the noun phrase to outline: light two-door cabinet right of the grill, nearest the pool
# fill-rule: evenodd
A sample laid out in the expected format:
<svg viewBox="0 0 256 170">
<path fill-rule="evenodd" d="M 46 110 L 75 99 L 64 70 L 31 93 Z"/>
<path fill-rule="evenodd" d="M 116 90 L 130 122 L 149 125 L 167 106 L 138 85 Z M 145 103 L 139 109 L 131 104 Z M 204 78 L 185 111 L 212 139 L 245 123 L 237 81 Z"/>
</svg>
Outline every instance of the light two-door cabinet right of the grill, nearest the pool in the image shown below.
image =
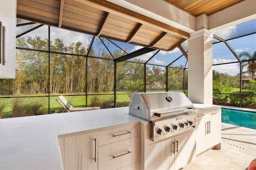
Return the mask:
<svg viewBox="0 0 256 170">
<path fill-rule="evenodd" d="M 196 155 L 221 143 L 221 108 L 202 109 L 196 120 Z"/>
</svg>

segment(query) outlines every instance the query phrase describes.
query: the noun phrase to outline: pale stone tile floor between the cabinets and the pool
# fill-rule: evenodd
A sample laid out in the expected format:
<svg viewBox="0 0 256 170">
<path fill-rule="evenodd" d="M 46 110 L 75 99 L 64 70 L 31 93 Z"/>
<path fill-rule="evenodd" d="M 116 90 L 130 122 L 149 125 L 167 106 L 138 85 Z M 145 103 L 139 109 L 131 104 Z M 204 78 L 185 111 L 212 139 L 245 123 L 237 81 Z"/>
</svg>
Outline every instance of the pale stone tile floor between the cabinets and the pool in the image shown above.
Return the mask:
<svg viewBox="0 0 256 170">
<path fill-rule="evenodd" d="M 182 170 L 245 170 L 256 158 L 256 130 L 222 123 L 221 150 L 197 156 Z"/>
</svg>

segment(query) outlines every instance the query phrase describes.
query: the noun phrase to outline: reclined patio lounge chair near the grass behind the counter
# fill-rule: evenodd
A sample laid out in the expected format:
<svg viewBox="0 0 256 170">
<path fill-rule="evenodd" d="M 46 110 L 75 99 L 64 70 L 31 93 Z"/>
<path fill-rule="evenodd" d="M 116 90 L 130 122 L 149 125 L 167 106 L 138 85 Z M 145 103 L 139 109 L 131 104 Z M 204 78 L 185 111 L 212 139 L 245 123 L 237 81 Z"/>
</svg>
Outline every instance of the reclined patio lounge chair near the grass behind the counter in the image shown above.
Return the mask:
<svg viewBox="0 0 256 170">
<path fill-rule="evenodd" d="M 64 105 L 58 101 L 58 99 L 55 99 L 61 106 L 62 108 L 62 113 L 64 111 L 67 111 L 67 112 L 76 112 L 76 111 L 88 111 L 88 110 L 96 110 L 96 109 L 100 109 L 100 107 L 73 107 L 68 101 L 67 99 L 61 95 L 61 96 L 58 96 L 58 98 L 60 99 L 60 101 L 62 101 L 62 103 L 64 103 Z"/>
</svg>

